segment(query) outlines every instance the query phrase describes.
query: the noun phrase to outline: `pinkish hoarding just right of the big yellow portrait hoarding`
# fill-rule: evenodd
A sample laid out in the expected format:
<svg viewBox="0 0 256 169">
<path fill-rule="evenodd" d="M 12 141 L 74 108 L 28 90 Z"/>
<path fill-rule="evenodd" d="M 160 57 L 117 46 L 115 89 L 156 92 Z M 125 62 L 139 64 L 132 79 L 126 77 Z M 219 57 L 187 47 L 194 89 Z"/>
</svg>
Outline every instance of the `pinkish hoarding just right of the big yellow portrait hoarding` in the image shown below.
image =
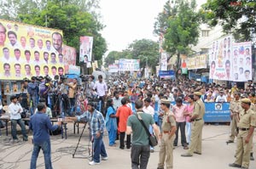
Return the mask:
<svg viewBox="0 0 256 169">
<path fill-rule="evenodd" d="M 63 57 L 64 57 L 64 68 L 65 74 L 74 74 L 74 70 L 80 74 L 79 67 L 76 68 L 77 53 L 76 48 L 63 45 Z M 72 73 L 70 70 L 72 69 Z M 79 70 L 79 71 L 78 71 Z"/>
</svg>

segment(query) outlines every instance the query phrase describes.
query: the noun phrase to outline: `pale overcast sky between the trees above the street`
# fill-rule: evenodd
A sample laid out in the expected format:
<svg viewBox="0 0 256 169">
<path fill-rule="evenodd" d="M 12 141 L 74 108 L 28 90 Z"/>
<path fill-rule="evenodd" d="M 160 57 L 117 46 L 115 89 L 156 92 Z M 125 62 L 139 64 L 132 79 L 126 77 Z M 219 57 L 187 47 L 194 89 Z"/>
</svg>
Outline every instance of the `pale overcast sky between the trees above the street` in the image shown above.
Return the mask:
<svg viewBox="0 0 256 169">
<path fill-rule="evenodd" d="M 154 37 L 154 22 L 166 0 L 101 0 L 102 36 L 108 52 L 122 51 L 134 40 Z"/>
</svg>

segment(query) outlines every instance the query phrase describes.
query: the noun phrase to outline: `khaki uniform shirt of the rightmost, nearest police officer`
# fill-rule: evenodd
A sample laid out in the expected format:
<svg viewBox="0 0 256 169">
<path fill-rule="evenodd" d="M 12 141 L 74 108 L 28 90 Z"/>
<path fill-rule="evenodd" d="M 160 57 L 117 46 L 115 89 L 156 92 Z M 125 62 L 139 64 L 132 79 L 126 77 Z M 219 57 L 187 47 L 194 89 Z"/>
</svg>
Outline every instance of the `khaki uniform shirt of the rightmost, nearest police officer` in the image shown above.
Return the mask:
<svg viewBox="0 0 256 169">
<path fill-rule="evenodd" d="M 252 109 L 245 111 L 244 109 L 239 113 L 240 121 L 237 124 L 239 128 L 256 127 L 256 112 Z"/>
</svg>

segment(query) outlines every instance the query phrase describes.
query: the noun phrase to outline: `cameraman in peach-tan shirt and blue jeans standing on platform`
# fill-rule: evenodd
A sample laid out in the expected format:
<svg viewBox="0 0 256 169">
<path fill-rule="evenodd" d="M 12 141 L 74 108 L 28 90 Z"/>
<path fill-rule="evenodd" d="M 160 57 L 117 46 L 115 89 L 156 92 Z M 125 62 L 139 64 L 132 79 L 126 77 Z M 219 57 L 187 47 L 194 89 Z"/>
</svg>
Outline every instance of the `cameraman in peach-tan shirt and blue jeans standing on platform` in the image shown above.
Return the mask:
<svg viewBox="0 0 256 169">
<path fill-rule="evenodd" d="M 73 82 L 69 82 L 67 83 L 68 86 L 68 99 L 70 101 L 70 111 L 69 111 L 69 115 L 73 115 L 73 110 L 74 106 L 75 106 L 75 98 L 76 98 L 76 91 L 77 91 L 77 82 L 78 79 L 74 78 Z"/>
</svg>

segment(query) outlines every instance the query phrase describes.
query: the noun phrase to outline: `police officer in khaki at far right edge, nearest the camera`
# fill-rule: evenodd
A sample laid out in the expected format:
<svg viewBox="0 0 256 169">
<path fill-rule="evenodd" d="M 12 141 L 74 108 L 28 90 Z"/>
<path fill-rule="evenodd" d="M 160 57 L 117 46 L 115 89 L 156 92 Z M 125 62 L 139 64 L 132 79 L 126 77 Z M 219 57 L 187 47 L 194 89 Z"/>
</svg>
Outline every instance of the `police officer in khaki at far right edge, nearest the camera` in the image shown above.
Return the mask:
<svg viewBox="0 0 256 169">
<path fill-rule="evenodd" d="M 229 166 L 248 169 L 250 163 L 250 151 L 253 144 L 253 131 L 256 127 L 256 113 L 250 109 L 251 100 L 241 99 L 242 110 L 239 112 L 240 121 L 237 124 L 236 161 Z"/>
</svg>

